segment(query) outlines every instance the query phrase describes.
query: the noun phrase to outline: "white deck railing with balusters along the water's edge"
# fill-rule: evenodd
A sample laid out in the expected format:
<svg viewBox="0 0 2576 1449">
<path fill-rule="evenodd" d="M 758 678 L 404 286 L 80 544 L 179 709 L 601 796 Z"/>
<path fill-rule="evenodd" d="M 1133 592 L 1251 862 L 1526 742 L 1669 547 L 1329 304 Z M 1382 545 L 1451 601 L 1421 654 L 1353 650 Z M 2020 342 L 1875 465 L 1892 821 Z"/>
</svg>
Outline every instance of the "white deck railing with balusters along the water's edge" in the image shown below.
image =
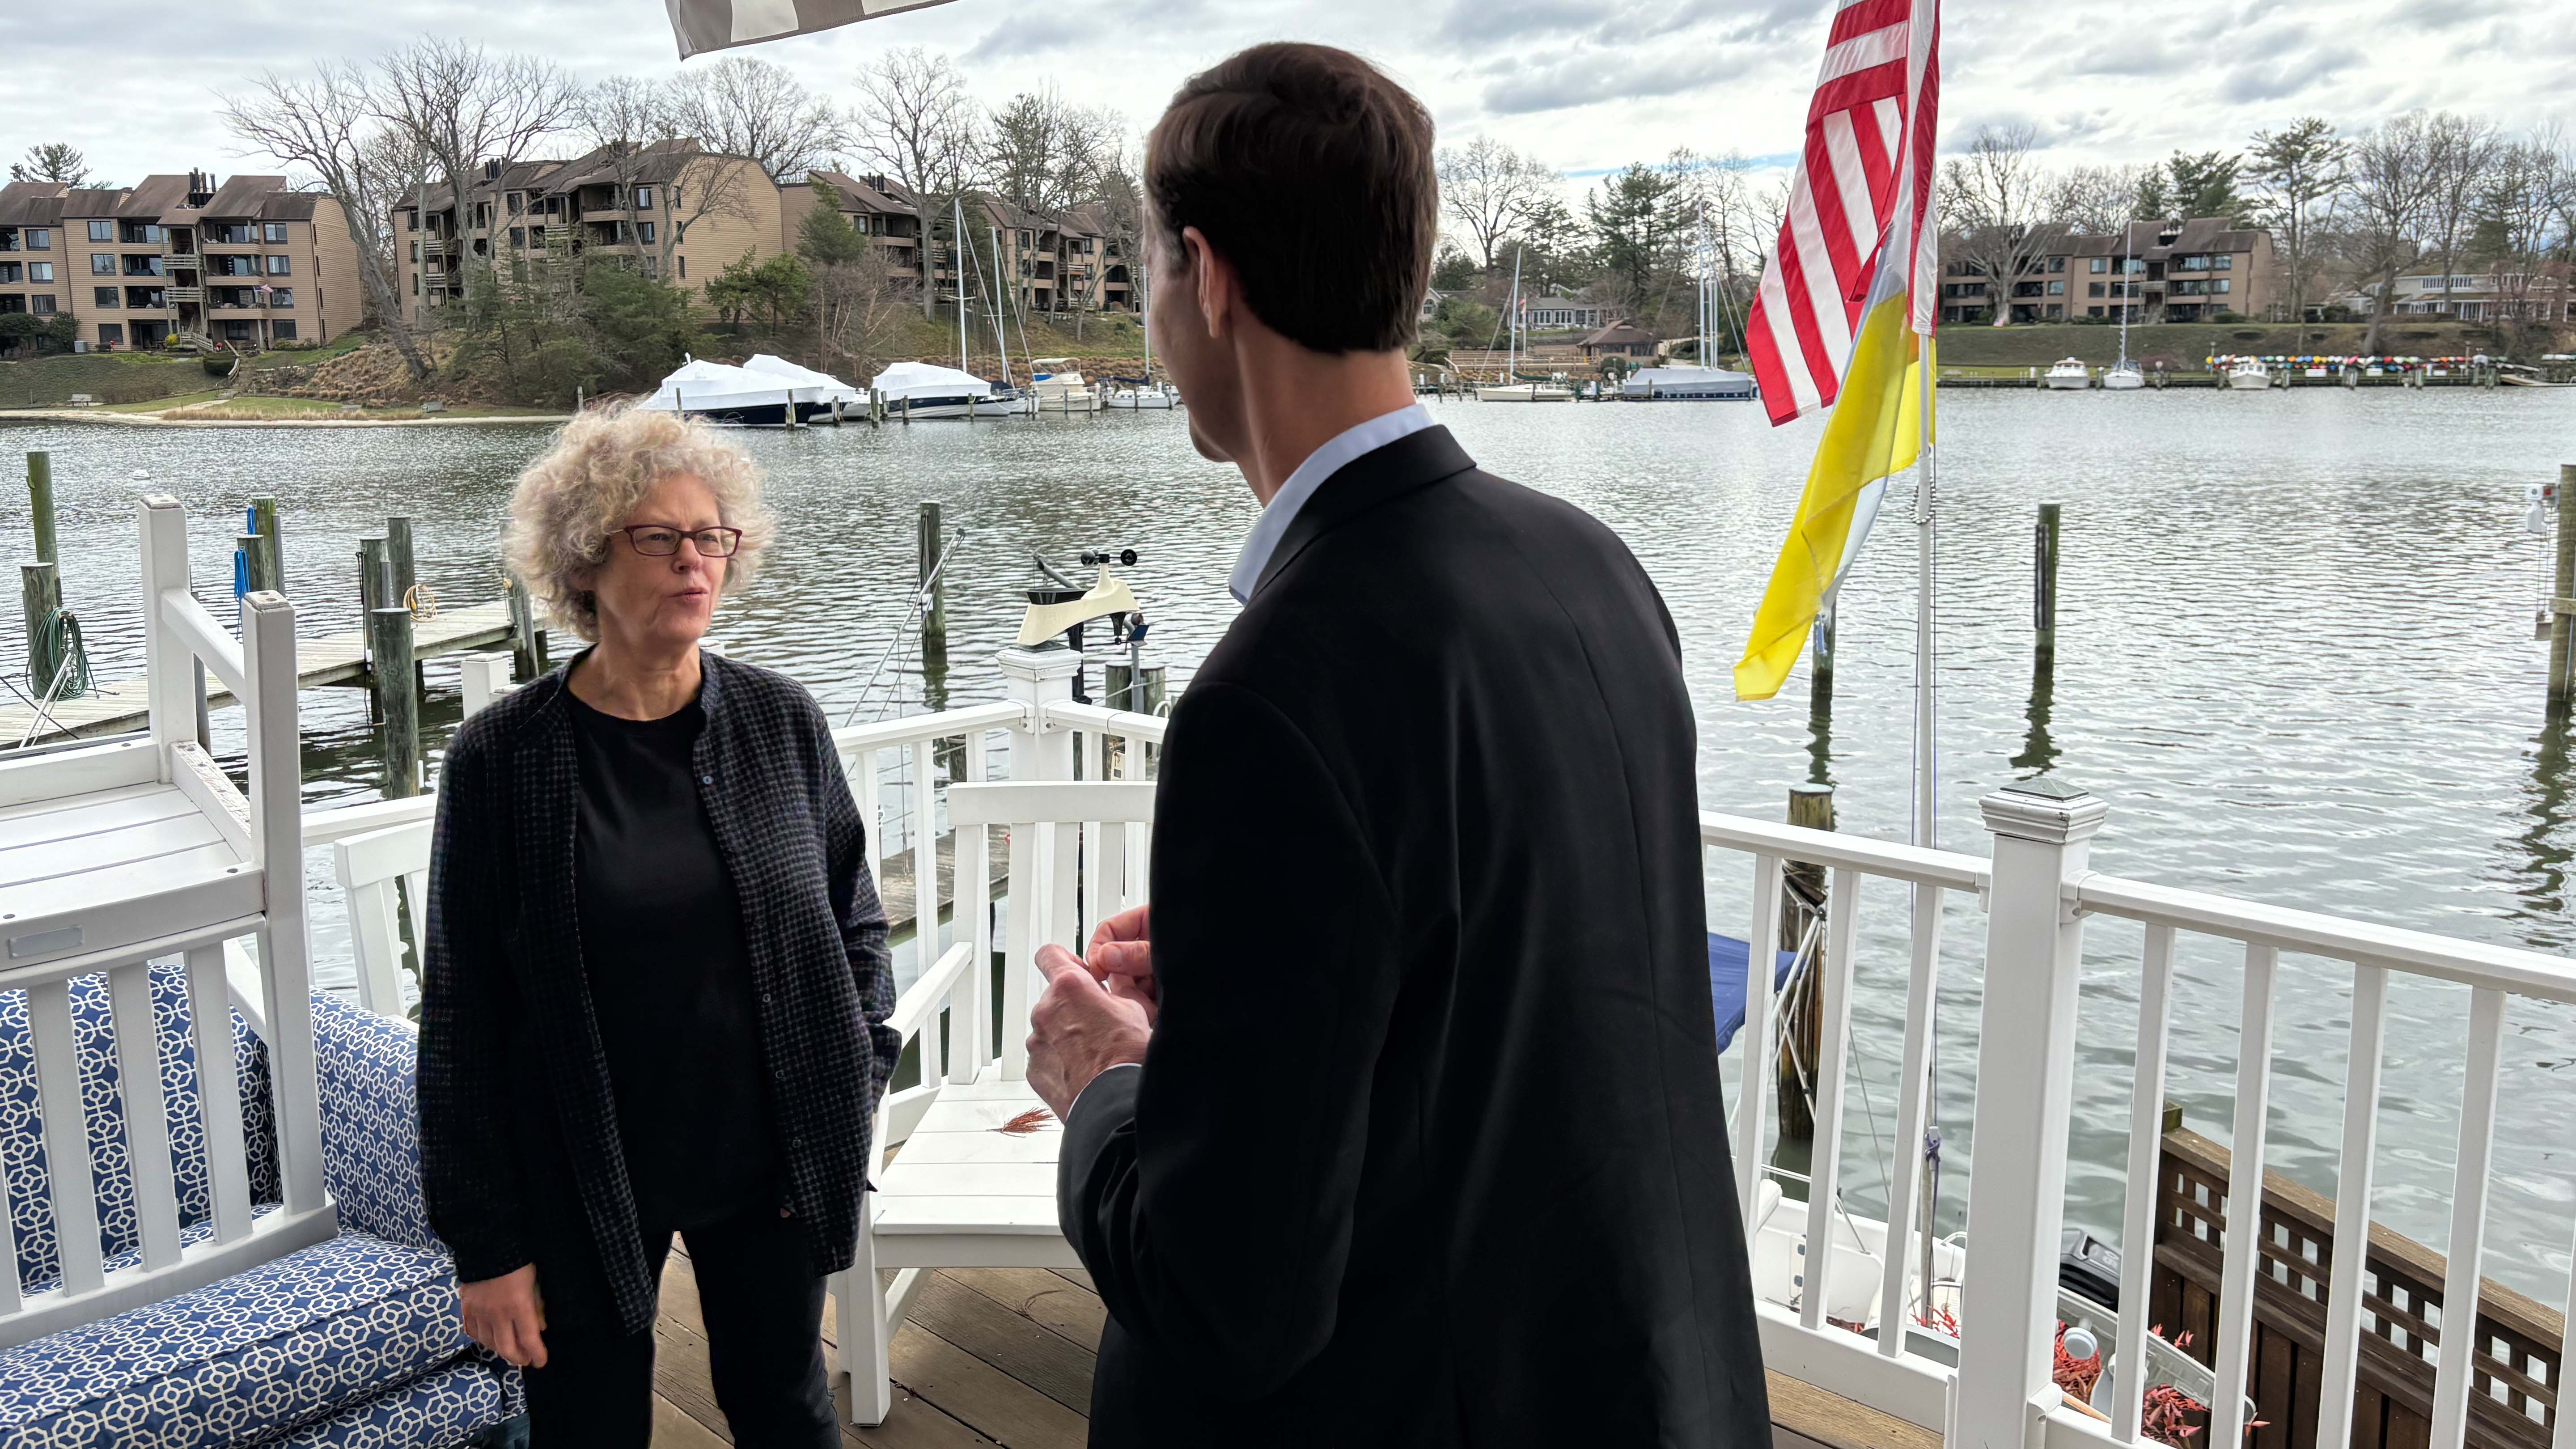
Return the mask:
<svg viewBox="0 0 2576 1449">
<path fill-rule="evenodd" d="M 922 972 L 948 975 L 961 946 L 992 951 L 992 920 L 969 910 L 953 923 L 953 944 L 940 949 L 938 838 L 945 820 L 945 784 L 994 779 L 1146 779 L 1149 748 L 1159 748 L 1167 719 L 1126 714 L 1066 699 L 1074 655 L 1005 652 L 1002 673 L 1010 696 L 994 704 L 914 714 L 835 732 L 850 771 L 853 794 L 871 830 L 878 859 L 909 853 L 914 879 L 917 962 Z M 307 825 L 309 843 L 353 846 L 353 835 L 381 830 L 407 815 L 420 822 L 420 848 L 428 848 L 428 802 L 366 804 L 317 815 Z M 1850 1075 L 1850 1018 L 1862 895 L 1899 892 L 1911 908 L 1906 933 L 1906 995 L 1901 1088 L 1896 1104 L 1899 1145 L 1922 1142 L 1929 1119 L 1932 1000 L 1942 967 L 1942 915 L 1953 895 L 1986 905 L 1981 946 L 1950 944 L 1950 964 L 1984 972 L 1984 1044 L 2009 1049 L 1978 1052 L 1976 1060 L 1976 1158 L 1968 1165 L 1968 1245 L 1971 1261 L 1960 1292 L 1958 1364 L 1927 1354 L 1929 1338 L 1904 1325 L 1932 1297 L 1922 1279 L 1919 1194 L 1911 1173 L 1914 1152 L 1899 1150 L 1899 1173 L 1888 1191 L 1888 1222 L 1878 1253 L 1880 1330 L 1875 1338 L 1839 1328 L 1826 1315 L 1826 1294 L 1806 1292 L 1795 1307 L 1765 1302 L 1762 1351 L 1772 1369 L 1873 1405 L 1924 1428 L 1947 1431 L 1953 1444 L 2027 1449 L 2050 1441 L 2143 1444 L 2141 1392 L 2146 1374 L 2123 1372 L 2120 1397 L 2110 1423 L 2069 1410 L 2050 1379 L 2058 1323 L 2058 1230 L 2066 1207 L 2066 1150 L 2074 1096 L 2074 1026 L 2084 949 L 2084 923 L 2092 915 L 2136 920 L 2146 931 L 2138 962 L 2138 1057 L 2130 1111 L 2128 1207 L 2123 1230 L 2120 1320 L 2112 1343 L 2115 1361 L 2146 1361 L 2148 1279 L 2154 1271 L 2154 1209 L 2161 1150 L 2161 1104 L 2166 1080 L 2166 1024 L 2174 995 L 2177 936 L 2213 936 L 2244 946 L 2241 1060 L 2236 1070 L 2236 1129 L 2231 1196 L 2259 1201 L 2264 1163 L 2264 1114 L 2272 1080 L 2272 980 L 2282 951 L 2339 959 L 2352 967 L 2352 1065 L 2347 1080 L 2336 1222 L 2352 1225 L 2334 1235 L 2331 1289 L 2326 1302 L 2326 1361 L 2321 1390 L 2318 1444 L 2344 1444 L 2349 1431 L 2352 1385 L 2360 1338 L 2370 1333 L 2365 1302 L 2367 1271 L 2362 1256 L 2370 1209 L 2370 1160 L 2375 1147 L 2380 1034 L 2388 977 L 2416 975 L 2470 987 L 2470 1042 L 2465 1052 L 2465 1093 L 2460 1158 L 2455 1168 L 2455 1212 L 2447 1253 L 2442 1320 L 2470 1325 L 2478 1312 L 2478 1258 L 2486 1235 L 2486 1176 L 2496 1119 L 2496 1067 L 2509 995 L 2576 1003 L 2576 964 L 2537 951 L 2452 941 L 2424 931 L 2398 931 L 2306 910 L 2285 910 L 2210 892 L 2172 890 L 2115 879 L 2087 869 L 2089 838 L 2099 830 L 2105 807 L 2089 794 L 2048 781 L 2014 786 L 1986 797 L 1991 859 L 1958 851 L 1924 851 L 1857 835 L 1801 830 L 1736 815 L 1703 815 L 1700 841 L 1710 853 L 1747 856 L 1752 897 L 1747 938 L 1754 959 L 1762 944 L 1780 938 L 1780 882 L 1788 864 L 1814 864 L 1829 877 L 1821 969 L 1824 1031 L 1814 1062 L 1814 1168 L 1803 1204 L 1806 1243 L 1814 1261 L 1803 1266 L 1808 1284 L 1829 1284 L 1832 1263 L 1850 1253 L 1844 1232 L 1826 1227 L 1842 1214 L 1842 1114 Z M 1100 861 L 1097 828 L 1082 841 L 1084 859 Z M 987 874 L 981 828 L 961 830 L 956 841 L 953 900 L 989 902 L 994 882 Z M 1072 833 L 1056 843 L 1074 851 Z M 1149 856 L 1144 830 L 1133 830 L 1121 869 L 1141 871 Z M 425 864 L 425 856 L 422 856 Z M 1133 877 L 1141 879 L 1141 877 Z M 1072 910 L 1059 902 L 1059 910 Z M 971 915 L 971 920 L 966 918 Z M 1097 908 L 1084 908 L 1077 931 L 1084 938 Z M 1074 923 L 1066 923 L 1074 926 Z M 1713 920 L 1728 928 L 1728 920 Z M 379 933 L 381 936 L 381 933 Z M 971 957 L 974 959 L 974 957 Z M 361 972 L 361 980 L 366 975 Z M 1012 982 L 1005 982 L 1005 993 Z M 1736 1186 L 1747 1220 L 1754 1217 L 1762 1183 L 1762 1147 L 1772 1116 L 1770 1062 L 1780 1024 L 1772 1013 L 1767 972 L 1747 972 L 1744 1062 L 1734 1104 Z M 951 1024 L 951 1034 L 956 1024 Z M 922 1080 L 945 1070 L 940 1031 L 922 1031 Z M 920 1088 L 914 1088 L 920 1093 Z M 927 1093 L 925 1093 L 927 1096 Z M 902 1140 L 917 1106 L 909 1093 L 886 1104 L 889 1140 Z M 2215 1207 L 2215 1204 L 2213 1204 Z M 2254 1289 L 2262 1253 L 2254 1235 L 2226 1235 L 2223 1292 L 2218 1328 L 2218 1385 L 2249 1382 Z M 1945 1284 L 1947 1292 L 1947 1284 Z M 2571 1305 L 2576 1307 L 2576 1305 Z M 2434 1397 L 2434 1449 L 2465 1441 L 2476 1385 L 2476 1336 L 2450 1333 L 2439 1346 Z M 2555 1385 L 2553 1385 L 2555 1387 Z M 2221 1392 L 2213 1403 L 2213 1428 L 2202 1444 L 2239 1444 L 2246 1403 Z M 2555 1418 L 2555 1449 L 2576 1449 L 2576 1413 Z"/>
</svg>

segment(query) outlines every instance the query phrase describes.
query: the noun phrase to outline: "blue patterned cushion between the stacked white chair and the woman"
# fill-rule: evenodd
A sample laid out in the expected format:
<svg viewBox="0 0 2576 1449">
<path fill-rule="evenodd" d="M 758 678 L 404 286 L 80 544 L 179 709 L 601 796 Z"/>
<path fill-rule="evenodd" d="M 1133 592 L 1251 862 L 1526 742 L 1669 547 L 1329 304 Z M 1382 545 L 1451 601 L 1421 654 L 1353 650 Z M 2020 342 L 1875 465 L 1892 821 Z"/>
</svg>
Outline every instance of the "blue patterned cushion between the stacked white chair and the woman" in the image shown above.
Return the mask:
<svg viewBox="0 0 2576 1449">
<path fill-rule="evenodd" d="M 322 1186 L 340 1204 L 340 1227 L 435 1248 L 420 1201 L 417 1047 L 410 1021 L 314 993 Z"/>
</svg>

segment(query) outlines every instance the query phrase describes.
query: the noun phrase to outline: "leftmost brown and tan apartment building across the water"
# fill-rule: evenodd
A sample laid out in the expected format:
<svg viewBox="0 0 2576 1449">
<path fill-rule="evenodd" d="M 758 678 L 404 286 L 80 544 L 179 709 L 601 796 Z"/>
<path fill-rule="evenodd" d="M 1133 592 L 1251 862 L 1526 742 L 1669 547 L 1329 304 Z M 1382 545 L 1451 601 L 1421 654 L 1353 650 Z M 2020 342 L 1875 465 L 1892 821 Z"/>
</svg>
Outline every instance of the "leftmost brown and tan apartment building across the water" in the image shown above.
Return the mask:
<svg viewBox="0 0 2576 1449">
<path fill-rule="evenodd" d="M 0 312 L 67 315 L 88 348 L 327 343 L 363 309 L 340 204 L 283 175 L 0 188 Z"/>
</svg>

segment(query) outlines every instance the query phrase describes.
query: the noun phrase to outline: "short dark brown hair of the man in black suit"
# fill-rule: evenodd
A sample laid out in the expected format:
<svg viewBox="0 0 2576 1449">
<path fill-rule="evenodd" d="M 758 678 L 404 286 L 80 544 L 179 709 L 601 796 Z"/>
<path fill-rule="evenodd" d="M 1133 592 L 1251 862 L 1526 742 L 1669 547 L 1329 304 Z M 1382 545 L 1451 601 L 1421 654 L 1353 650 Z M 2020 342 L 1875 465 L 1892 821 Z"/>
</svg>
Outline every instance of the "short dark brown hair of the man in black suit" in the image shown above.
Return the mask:
<svg viewBox="0 0 2576 1449">
<path fill-rule="evenodd" d="M 1440 235 L 1432 116 L 1365 59 L 1275 41 L 1193 75 L 1146 137 L 1144 188 L 1172 255 L 1198 227 L 1288 340 L 1412 343 Z"/>
</svg>

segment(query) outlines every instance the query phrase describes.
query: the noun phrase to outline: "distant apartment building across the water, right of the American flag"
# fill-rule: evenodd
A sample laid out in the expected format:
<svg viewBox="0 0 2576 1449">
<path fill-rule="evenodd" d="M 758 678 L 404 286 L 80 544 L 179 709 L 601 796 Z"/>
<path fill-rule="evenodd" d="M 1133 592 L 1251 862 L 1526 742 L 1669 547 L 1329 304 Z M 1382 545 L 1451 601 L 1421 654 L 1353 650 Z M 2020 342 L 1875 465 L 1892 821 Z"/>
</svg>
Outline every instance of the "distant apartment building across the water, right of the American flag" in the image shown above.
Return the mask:
<svg viewBox="0 0 2576 1449">
<path fill-rule="evenodd" d="M 2287 307 L 2272 232 L 2215 217 L 2136 222 L 2128 235 L 2058 235 L 2002 284 L 1976 260 L 1942 248 L 1942 322 L 1989 322 L 2012 307 L 2014 322 L 2213 322 L 2221 312 L 2269 317 Z"/>
</svg>

